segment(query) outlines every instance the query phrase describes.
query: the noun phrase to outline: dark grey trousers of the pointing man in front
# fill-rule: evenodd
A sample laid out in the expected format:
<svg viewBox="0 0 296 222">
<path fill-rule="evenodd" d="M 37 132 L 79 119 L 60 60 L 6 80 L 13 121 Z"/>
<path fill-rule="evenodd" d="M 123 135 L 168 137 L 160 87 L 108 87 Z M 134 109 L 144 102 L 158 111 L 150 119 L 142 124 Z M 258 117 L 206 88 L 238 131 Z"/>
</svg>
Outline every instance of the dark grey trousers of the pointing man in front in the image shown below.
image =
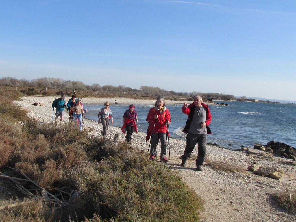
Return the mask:
<svg viewBox="0 0 296 222">
<path fill-rule="evenodd" d="M 205 162 L 205 151 L 207 143 L 207 134 L 187 133 L 186 147 L 184 154 L 181 156 L 182 160 L 188 160 L 192 154 L 195 145 L 198 145 L 198 155 L 196 158 L 196 166 L 202 165 Z"/>
</svg>

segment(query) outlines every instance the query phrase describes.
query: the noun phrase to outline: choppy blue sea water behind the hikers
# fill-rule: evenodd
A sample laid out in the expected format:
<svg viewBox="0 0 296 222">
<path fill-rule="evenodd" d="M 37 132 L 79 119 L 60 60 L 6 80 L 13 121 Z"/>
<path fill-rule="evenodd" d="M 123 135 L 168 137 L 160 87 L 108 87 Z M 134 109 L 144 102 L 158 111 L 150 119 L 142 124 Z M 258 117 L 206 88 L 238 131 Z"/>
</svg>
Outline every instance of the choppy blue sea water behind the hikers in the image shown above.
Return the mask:
<svg viewBox="0 0 296 222">
<path fill-rule="evenodd" d="M 216 101 L 221 102 L 221 101 Z M 221 147 L 238 149 L 241 146 L 253 147 L 254 143 L 266 144 L 278 141 L 296 148 L 296 105 L 260 102 L 226 102 L 229 106 L 209 105 L 212 121 L 209 125 L 213 134 L 207 136 L 207 142 Z M 113 126 L 123 124 L 123 114 L 129 104 L 110 104 Z M 136 104 L 139 131 L 146 133 L 146 117 L 154 104 Z M 98 112 L 104 104 L 85 104 L 86 118 L 98 121 Z M 184 129 L 187 115 L 182 112 L 182 104 L 168 104 L 171 115 L 169 132 L 172 138 L 186 139 Z M 111 124 L 111 122 L 110 122 Z"/>
</svg>

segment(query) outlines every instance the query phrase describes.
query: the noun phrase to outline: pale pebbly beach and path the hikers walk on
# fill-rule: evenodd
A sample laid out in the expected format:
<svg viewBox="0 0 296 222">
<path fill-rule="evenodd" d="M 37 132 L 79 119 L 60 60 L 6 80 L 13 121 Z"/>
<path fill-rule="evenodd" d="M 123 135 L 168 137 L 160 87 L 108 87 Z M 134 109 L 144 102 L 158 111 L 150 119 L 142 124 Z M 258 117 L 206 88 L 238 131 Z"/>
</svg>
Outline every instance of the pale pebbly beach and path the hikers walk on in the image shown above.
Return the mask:
<svg viewBox="0 0 296 222">
<path fill-rule="evenodd" d="M 16 104 L 27 109 L 28 115 L 40 121 L 50 122 L 52 119 L 52 102 L 58 97 L 25 96 Z M 70 98 L 66 98 L 68 101 Z M 133 100 L 126 98 L 86 98 L 83 103 L 114 104 L 154 104 L 155 100 Z M 43 106 L 34 106 L 34 102 L 44 102 Z M 183 104 L 184 101 L 165 101 L 167 104 Z M 67 113 L 66 113 L 67 114 Z M 64 121 L 68 121 L 65 115 Z M 96 136 L 101 136 L 102 125 L 85 119 L 83 128 L 92 128 Z M 119 141 L 125 141 L 118 127 L 110 126 L 107 138 L 113 139 L 118 133 Z M 133 134 L 131 144 L 138 149 L 148 150 L 149 144 L 144 143 L 146 132 Z M 204 170 L 194 170 L 195 161 L 189 160 L 186 167 L 181 167 L 181 155 L 186 142 L 184 140 L 170 139 L 170 163 L 168 167 L 184 179 L 202 199 L 205 200 L 205 210 L 202 212 L 203 222 L 221 221 L 296 221 L 295 215 L 286 213 L 272 199 L 271 194 L 296 190 L 295 166 L 288 165 L 292 160 L 274 157 L 273 155 L 250 155 L 246 151 L 232 151 L 207 145 L 207 160 L 217 160 L 234 165 L 240 165 L 246 169 L 245 173 L 231 173 L 213 170 L 205 162 Z M 157 147 L 160 152 L 160 147 Z M 194 149 L 193 155 L 197 155 Z M 158 160 L 159 161 L 159 160 Z M 156 161 L 156 164 L 157 162 Z M 256 176 L 247 170 L 251 163 L 260 167 L 274 166 L 284 170 L 285 176 L 281 180 Z M 295 194 L 294 194 L 295 195 Z"/>
</svg>

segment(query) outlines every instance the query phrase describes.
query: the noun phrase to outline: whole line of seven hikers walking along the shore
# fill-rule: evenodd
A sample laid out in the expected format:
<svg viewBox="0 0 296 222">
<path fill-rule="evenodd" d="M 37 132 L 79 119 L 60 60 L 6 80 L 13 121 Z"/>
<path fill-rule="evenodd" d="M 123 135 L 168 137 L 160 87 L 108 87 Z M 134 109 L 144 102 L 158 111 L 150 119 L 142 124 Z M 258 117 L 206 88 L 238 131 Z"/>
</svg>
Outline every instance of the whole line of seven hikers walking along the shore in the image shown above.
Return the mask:
<svg viewBox="0 0 296 222">
<path fill-rule="evenodd" d="M 73 95 L 69 102 L 67 103 L 70 119 L 77 120 L 79 124 L 79 129 L 82 130 L 82 116 L 86 110 L 83 109 L 82 99 Z M 54 100 L 52 103 L 52 108 L 56 107 L 56 119 L 60 117 L 60 123 L 64 116 L 64 106 L 66 105 L 65 96 Z M 211 122 L 212 115 L 209 106 L 204 104 L 202 101 L 202 96 L 196 95 L 193 98 L 192 104 L 187 104 L 184 102 L 182 106 L 182 112 L 188 116 L 185 128 L 183 130 L 186 136 L 186 147 L 184 154 L 181 156 L 182 163 L 181 166 L 186 166 L 186 161 L 191 156 L 195 145 L 198 145 L 198 155 L 196 159 L 196 170 L 202 171 L 202 165 L 205 161 L 206 156 L 206 143 L 207 134 L 211 134 L 211 130 L 208 125 Z M 72 116 L 72 117 L 71 117 Z M 101 131 L 102 136 L 106 136 L 108 126 L 113 123 L 113 116 L 110 109 L 110 102 L 105 102 L 104 107 L 98 113 L 98 124 L 102 123 L 103 130 Z M 169 132 L 168 127 L 170 125 L 170 112 L 165 105 L 163 97 L 157 97 L 154 107 L 152 107 L 147 115 L 146 121 L 149 122 L 145 141 L 147 142 L 150 137 L 150 156 L 149 160 L 154 161 L 157 157 L 157 144 L 160 140 L 160 162 L 168 163 L 167 158 L 167 146 L 169 147 Z M 129 105 L 129 109 L 123 114 L 123 126 L 121 131 L 127 133 L 125 136 L 126 142 L 130 142 L 132 139 L 133 132 L 138 132 L 138 114 L 135 110 L 133 104 Z M 140 126 L 140 125 L 139 125 Z M 141 126 L 140 126 L 141 127 Z M 151 146 L 150 146 L 151 145 Z M 143 144 L 144 146 L 144 144 Z M 169 150 L 170 151 L 170 150 Z"/>
</svg>

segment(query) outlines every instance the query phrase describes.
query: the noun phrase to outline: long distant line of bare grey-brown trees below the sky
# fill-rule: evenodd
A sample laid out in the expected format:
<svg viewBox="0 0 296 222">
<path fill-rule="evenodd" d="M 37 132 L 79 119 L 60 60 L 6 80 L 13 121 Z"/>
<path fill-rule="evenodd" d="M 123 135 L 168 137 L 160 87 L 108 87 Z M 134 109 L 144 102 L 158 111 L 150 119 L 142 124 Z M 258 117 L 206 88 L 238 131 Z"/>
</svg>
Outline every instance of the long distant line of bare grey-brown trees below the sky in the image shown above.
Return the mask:
<svg viewBox="0 0 296 222">
<path fill-rule="evenodd" d="M 61 88 L 61 89 L 75 89 L 75 90 L 89 90 L 89 91 L 106 91 L 106 92 L 118 92 L 123 94 L 134 94 L 134 95 L 147 95 L 147 96 L 181 96 L 181 97 L 192 97 L 194 95 L 201 95 L 206 98 L 211 98 L 214 100 L 234 100 L 237 99 L 234 95 L 229 94 L 219 94 L 219 93 L 201 93 L 193 91 L 191 93 L 187 92 L 175 92 L 166 91 L 159 87 L 153 86 L 141 86 L 140 89 L 132 89 L 131 87 L 119 85 L 104 85 L 95 83 L 93 85 L 86 85 L 81 81 L 71 81 L 63 80 L 61 78 L 37 78 L 33 80 L 18 80 L 13 77 L 3 77 L 0 78 L 0 86 L 22 86 L 22 87 L 39 87 L 39 88 Z"/>
</svg>

